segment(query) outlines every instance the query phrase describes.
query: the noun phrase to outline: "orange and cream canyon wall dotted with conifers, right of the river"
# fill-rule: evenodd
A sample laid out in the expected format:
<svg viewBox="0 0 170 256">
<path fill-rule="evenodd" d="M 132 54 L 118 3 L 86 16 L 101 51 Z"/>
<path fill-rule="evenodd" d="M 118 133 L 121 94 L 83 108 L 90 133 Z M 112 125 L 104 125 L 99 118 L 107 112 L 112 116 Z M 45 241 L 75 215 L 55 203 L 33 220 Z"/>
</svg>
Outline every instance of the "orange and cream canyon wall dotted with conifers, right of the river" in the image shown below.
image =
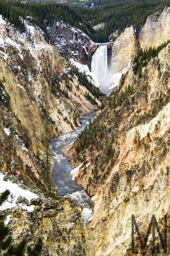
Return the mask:
<svg viewBox="0 0 170 256">
<path fill-rule="evenodd" d="M 83 155 L 89 157 L 75 179 L 94 201 L 95 255 L 130 253 L 132 214 L 143 235 L 152 214 L 160 229 L 162 209 L 169 214 L 169 53 L 170 44 L 149 61 L 140 79 L 131 65 L 89 131 L 68 152 L 75 166 Z M 144 255 L 151 253 L 149 240 Z"/>
</svg>

